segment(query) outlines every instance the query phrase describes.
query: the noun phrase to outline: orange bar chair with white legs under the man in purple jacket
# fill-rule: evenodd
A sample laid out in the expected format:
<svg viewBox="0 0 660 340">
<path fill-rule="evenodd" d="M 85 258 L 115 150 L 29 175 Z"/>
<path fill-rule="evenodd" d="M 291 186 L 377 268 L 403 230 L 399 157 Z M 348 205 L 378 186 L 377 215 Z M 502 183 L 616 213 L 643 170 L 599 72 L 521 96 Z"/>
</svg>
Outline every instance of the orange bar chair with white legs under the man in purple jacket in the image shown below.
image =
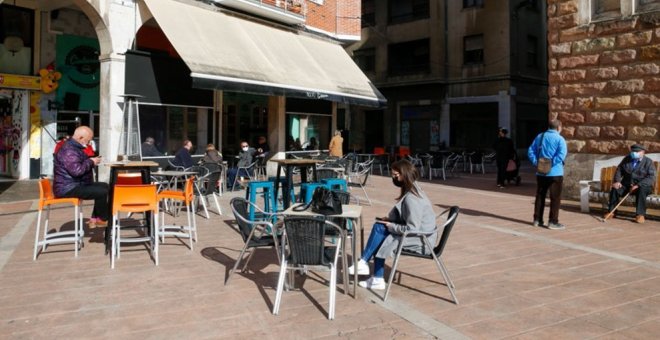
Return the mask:
<svg viewBox="0 0 660 340">
<path fill-rule="evenodd" d="M 48 222 L 50 221 L 50 207 L 56 204 L 71 204 L 74 208 L 73 221 L 74 227 L 73 230 L 65 231 L 56 231 L 48 233 Z M 44 236 L 42 240 L 39 240 L 39 233 L 41 229 L 41 213 L 46 210 L 46 222 L 44 222 Z M 78 257 L 78 249 L 83 245 L 83 236 L 84 231 L 82 228 L 83 225 L 83 214 L 82 214 L 82 200 L 75 197 L 70 198 L 55 198 L 53 194 L 53 189 L 48 178 L 42 178 L 39 180 L 39 213 L 37 215 L 37 231 L 34 236 L 34 255 L 32 260 L 37 260 L 37 253 L 39 252 L 39 247 L 41 246 L 41 251 L 46 250 L 46 246 L 49 244 L 58 244 L 58 243 L 74 243 L 74 254 Z"/>
</svg>

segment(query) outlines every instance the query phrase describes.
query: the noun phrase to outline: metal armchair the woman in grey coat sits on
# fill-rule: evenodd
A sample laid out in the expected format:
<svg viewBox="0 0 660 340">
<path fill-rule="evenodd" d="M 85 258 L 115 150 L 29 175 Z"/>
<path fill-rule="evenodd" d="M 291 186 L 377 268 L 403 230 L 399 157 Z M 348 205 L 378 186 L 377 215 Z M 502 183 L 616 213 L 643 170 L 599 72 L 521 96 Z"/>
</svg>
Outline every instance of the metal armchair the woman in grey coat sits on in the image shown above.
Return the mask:
<svg viewBox="0 0 660 340">
<path fill-rule="evenodd" d="M 433 260 L 436 266 L 438 267 L 440 274 L 442 274 L 442 277 L 444 278 L 445 283 L 447 284 L 447 288 L 449 288 L 449 293 L 454 299 L 454 303 L 458 304 L 458 298 L 456 298 L 456 293 L 454 292 L 454 288 L 455 288 L 454 283 L 451 280 L 451 276 L 449 276 L 449 271 L 447 270 L 447 267 L 445 267 L 445 264 L 442 262 L 441 256 L 442 256 L 442 251 L 445 249 L 445 246 L 447 245 L 447 239 L 449 239 L 449 233 L 451 233 L 451 230 L 454 227 L 454 223 L 456 223 L 456 218 L 458 217 L 459 211 L 460 211 L 459 207 L 453 206 L 438 214 L 436 216 L 436 219 L 447 214 L 447 219 L 444 222 L 441 229 L 437 228 L 436 226 L 436 230 L 432 230 L 429 232 L 406 231 L 403 233 L 401 237 L 402 239 L 406 237 L 415 237 L 415 238 L 421 237 L 422 240 L 424 240 L 427 249 L 433 249 L 433 251 L 428 255 L 407 251 L 403 247 L 404 242 L 399 242 L 399 247 L 397 248 L 396 255 L 394 256 L 394 264 L 392 265 L 390 278 L 387 281 L 387 288 L 385 289 L 385 295 L 383 297 L 383 301 L 387 300 L 387 296 L 390 293 L 390 288 L 392 287 L 392 282 L 394 281 L 394 275 L 396 274 L 396 269 L 399 264 L 399 258 L 401 257 L 401 255 L 406 255 L 406 256 L 420 257 L 424 259 Z M 439 237 L 440 241 L 438 242 L 438 245 L 433 247 L 433 245 L 429 241 L 429 236 L 435 233 L 441 233 L 441 235 Z M 401 275 L 399 275 L 399 282 L 400 281 L 401 281 Z"/>
</svg>

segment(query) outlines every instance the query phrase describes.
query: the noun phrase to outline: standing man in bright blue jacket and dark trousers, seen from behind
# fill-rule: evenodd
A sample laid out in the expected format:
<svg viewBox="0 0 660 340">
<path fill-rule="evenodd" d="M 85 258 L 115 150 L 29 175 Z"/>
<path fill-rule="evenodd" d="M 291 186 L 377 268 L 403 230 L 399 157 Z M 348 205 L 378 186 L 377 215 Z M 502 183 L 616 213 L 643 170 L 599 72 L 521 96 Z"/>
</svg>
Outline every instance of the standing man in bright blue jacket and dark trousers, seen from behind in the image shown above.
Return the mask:
<svg viewBox="0 0 660 340">
<path fill-rule="evenodd" d="M 540 133 L 527 150 L 527 158 L 536 167 L 540 158 L 549 159 L 551 168 L 548 173 L 536 173 L 536 201 L 534 202 L 535 227 L 543 226 L 543 210 L 545 209 L 545 196 L 550 191 L 550 217 L 548 229 L 564 229 L 559 223 L 559 205 L 561 204 L 561 189 L 564 182 L 564 160 L 568 153 L 566 141 L 561 136 L 561 122 L 551 120 L 548 130 Z"/>
</svg>

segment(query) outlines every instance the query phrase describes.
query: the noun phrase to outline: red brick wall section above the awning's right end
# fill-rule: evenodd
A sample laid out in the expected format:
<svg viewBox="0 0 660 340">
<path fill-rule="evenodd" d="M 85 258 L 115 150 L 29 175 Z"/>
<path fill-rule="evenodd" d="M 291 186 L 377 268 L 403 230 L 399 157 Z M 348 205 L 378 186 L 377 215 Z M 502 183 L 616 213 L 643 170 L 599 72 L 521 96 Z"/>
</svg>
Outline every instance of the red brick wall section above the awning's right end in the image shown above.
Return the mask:
<svg viewBox="0 0 660 340">
<path fill-rule="evenodd" d="M 338 36 L 360 36 L 361 7 L 358 0 L 307 1 L 306 24 Z"/>
</svg>

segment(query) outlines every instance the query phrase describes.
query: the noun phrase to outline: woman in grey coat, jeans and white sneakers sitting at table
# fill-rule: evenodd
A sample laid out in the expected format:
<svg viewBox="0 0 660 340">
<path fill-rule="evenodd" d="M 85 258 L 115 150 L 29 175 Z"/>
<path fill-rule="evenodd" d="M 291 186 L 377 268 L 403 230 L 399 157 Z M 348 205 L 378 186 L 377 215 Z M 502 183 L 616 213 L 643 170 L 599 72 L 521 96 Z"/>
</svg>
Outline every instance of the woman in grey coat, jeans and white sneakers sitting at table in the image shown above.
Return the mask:
<svg viewBox="0 0 660 340">
<path fill-rule="evenodd" d="M 392 182 L 401 188 L 397 202 L 386 217 L 376 218 L 362 251 L 362 257 L 357 264 L 358 275 L 369 275 L 369 260 L 374 257 L 374 275 L 366 281 L 360 281 L 360 287 L 369 289 L 385 289 L 385 259 L 393 256 L 399 242 L 404 242 L 406 250 L 421 254 L 430 254 L 433 249 L 427 249 L 420 237 L 410 237 L 402 240 L 405 231 L 432 231 L 435 229 L 435 213 L 426 193 L 417 184 L 419 173 L 408 160 L 402 159 L 392 163 Z M 431 244 L 435 244 L 437 234 L 429 236 Z M 352 275 L 353 266 L 348 268 Z"/>
</svg>

